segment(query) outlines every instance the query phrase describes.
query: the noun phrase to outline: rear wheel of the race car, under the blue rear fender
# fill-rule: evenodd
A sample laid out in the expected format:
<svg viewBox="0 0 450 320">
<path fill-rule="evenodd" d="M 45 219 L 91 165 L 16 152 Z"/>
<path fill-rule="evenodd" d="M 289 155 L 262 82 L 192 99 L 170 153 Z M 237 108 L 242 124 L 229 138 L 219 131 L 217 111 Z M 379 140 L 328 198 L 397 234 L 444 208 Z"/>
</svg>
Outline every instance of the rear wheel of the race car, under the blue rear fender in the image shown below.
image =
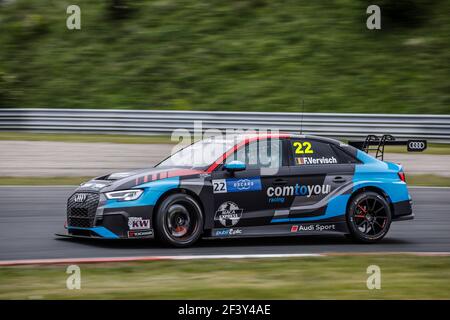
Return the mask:
<svg viewBox="0 0 450 320">
<path fill-rule="evenodd" d="M 375 243 L 389 231 L 392 215 L 384 197 L 376 192 L 366 191 L 351 199 L 346 219 L 353 240 Z"/>
</svg>

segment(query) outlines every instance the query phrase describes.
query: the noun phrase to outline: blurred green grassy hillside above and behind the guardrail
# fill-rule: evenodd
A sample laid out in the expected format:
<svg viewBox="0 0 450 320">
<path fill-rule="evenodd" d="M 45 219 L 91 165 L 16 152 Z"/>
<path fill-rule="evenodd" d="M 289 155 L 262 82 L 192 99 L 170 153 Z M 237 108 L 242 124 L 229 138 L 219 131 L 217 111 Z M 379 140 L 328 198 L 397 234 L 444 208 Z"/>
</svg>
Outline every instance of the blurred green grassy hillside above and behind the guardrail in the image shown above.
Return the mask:
<svg viewBox="0 0 450 320">
<path fill-rule="evenodd" d="M 449 1 L 55 2 L 1 1 L 0 106 L 449 113 Z"/>
</svg>

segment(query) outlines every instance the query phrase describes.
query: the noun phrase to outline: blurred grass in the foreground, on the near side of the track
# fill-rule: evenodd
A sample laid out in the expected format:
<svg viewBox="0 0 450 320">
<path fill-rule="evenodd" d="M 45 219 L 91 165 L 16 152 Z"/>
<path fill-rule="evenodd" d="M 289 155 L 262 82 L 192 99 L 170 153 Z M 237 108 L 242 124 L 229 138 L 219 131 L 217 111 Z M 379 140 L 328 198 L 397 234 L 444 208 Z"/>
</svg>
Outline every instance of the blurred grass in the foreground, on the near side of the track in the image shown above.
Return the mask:
<svg viewBox="0 0 450 320">
<path fill-rule="evenodd" d="M 369 265 L 381 289 L 368 290 Z M 0 299 L 449 299 L 450 257 L 335 256 L 0 268 Z"/>
</svg>

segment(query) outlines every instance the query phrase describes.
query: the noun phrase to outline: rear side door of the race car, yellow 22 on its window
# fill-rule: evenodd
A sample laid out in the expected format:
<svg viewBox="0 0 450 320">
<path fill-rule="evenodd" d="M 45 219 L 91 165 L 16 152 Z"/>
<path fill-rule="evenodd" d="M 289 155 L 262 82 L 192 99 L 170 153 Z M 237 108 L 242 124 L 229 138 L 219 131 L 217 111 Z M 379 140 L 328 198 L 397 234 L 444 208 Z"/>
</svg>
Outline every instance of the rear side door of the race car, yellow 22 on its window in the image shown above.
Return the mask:
<svg viewBox="0 0 450 320">
<path fill-rule="evenodd" d="M 276 189 L 274 194 L 286 199 L 289 210 L 277 212 L 273 222 L 310 221 L 339 215 L 342 208 L 331 212 L 327 210 L 328 204 L 337 196 L 350 195 L 357 160 L 326 140 L 291 138 L 288 146 L 288 185 Z M 346 203 L 340 201 L 343 198 L 338 200 L 333 205 Z"/>
</svg>

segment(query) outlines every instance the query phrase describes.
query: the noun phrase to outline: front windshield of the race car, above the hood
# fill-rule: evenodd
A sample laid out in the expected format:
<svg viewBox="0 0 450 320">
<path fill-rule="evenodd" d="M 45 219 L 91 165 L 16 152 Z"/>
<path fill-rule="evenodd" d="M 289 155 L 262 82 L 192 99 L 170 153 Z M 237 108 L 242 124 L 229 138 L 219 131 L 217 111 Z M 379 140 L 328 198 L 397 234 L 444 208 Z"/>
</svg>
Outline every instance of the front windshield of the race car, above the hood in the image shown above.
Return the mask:
<svg viewBox="0 0 450 320">
<path fill-rule="evenodd" d="M 224 139 L 223 137 L 200 140 L 172 154 L 157 167 L 209 167 L 236 143 L 236 139 Z"/>
</svg>

